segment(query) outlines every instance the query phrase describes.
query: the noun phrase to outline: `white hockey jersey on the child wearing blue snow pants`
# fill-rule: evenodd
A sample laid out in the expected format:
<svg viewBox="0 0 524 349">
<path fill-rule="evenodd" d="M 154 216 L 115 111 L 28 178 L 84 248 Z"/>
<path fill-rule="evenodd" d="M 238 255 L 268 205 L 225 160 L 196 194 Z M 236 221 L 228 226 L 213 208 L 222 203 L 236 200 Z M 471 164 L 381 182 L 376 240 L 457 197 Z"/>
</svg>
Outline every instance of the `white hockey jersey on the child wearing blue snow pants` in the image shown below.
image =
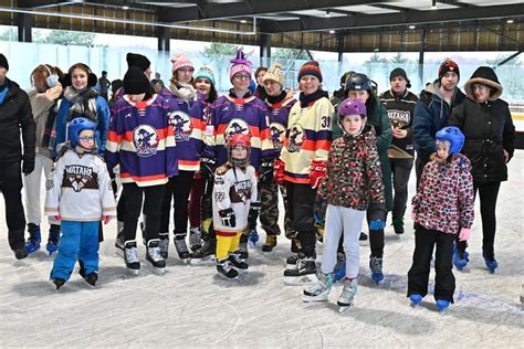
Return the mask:
<svg viewBox="0 0 524 349">
<path fill-rule="evenodd" d="M 116 215 L 115 197 L 105 161 L 92 154 L 67 150 L 46 181 L 45 215 L 64 221 L 99 221 Z"/>
</svg>

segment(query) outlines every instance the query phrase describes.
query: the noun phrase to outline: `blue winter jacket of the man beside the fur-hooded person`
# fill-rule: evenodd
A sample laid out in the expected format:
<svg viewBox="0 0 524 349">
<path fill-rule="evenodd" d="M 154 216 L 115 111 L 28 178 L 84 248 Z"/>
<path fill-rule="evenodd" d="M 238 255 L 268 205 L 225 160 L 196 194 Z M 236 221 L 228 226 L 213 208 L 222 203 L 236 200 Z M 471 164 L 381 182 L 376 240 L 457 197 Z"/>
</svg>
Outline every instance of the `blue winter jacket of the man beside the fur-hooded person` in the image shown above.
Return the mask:
<svg viewBox="0 0 524 349">
<path fill-rule="evenodd" d="M 459 89 L 452 98 L 451 106 L 439 94 L 440 82 L 437 80 L 420 93 L 420 99 L 415 105 L 413 140 L 415 150 L 423 161 L 437 151 L 434 135 L 448 125 L 448 118 L 453 107 L 464 101 L 465 95 Z"/>
</svg>

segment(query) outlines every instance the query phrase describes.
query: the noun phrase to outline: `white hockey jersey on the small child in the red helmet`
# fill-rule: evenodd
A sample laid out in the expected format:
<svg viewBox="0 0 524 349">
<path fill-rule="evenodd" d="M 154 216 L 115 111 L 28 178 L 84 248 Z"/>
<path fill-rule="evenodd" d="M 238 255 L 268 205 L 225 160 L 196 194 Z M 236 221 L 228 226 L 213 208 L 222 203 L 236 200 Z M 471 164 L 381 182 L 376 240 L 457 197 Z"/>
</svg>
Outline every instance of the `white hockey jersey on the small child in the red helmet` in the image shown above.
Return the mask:
<svg viewBox="0 0 524 349">
<path fill-rule="evenodd" d="M 256 176 L 250 165 L 242 170 L 226 162 L 214 172 L 213 226 L 216 231 L 237 233 L 248 229 L 248 214 L 251 202 L 256 202 Z M 237 224 L 224 226 L 219 211 L 233 209 Z"/>
</svg>

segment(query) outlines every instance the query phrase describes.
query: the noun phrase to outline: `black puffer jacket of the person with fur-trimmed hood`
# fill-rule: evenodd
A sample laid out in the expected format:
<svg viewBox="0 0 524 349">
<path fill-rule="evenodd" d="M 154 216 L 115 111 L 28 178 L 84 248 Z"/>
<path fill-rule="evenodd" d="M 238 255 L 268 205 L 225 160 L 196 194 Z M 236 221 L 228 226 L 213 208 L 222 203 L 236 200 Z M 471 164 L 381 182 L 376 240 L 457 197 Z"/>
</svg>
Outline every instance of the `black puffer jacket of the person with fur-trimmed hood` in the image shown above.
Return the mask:
<svg viewBox="0 0 524 349">
<path fill-rule="evenodd" d="M 515 149 L 515 126 L 507 103 L 495 99 L 478 104 L 465 98 L 451 113 L 449 125 L 459 127 L 465 136 L 461 152 L 471 161 L 474 182 L 507 180 L 504 150 L 511 159 Z"/>
</svg>

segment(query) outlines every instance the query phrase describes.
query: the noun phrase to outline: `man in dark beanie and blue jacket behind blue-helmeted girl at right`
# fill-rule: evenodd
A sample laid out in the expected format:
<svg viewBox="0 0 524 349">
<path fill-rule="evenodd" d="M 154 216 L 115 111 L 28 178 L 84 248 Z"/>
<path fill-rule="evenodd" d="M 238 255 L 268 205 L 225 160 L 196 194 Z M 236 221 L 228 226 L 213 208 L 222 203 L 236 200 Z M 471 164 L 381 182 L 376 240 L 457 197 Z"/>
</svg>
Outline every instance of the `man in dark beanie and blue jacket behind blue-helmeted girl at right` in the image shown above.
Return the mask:
<svg viewBox="0 0 524 349">
<path fill-rule="evenodd" d="M 415 174 L 417 183 L 429 156 L 436 151 L 434 134 L 448 124 L 452 109 L 464 101 L 464 94 L 457 86 L 460 80 L 459 65 L 450 59 L 439 67 L 439 78 L 426 86 L 415 105 L 413 140 L 417 159 Z"/>
</svg>

